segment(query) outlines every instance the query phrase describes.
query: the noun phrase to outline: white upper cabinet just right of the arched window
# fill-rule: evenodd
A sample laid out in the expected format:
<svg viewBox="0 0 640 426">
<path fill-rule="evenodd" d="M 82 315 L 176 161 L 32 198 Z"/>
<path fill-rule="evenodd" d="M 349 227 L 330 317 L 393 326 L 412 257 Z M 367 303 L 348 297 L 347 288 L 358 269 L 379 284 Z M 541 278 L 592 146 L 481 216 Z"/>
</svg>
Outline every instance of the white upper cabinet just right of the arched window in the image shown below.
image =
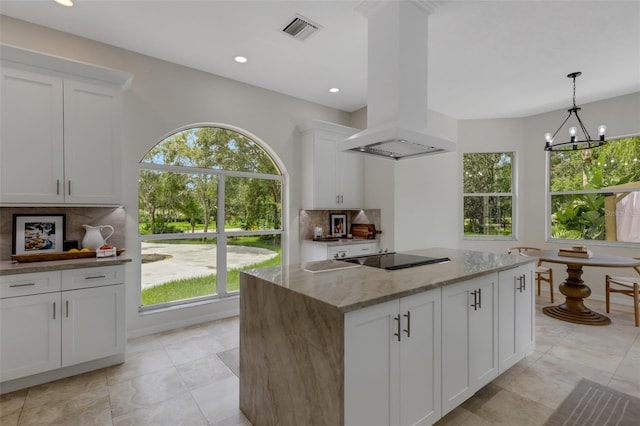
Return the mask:
<svg viewBox="0 0 640 426">
<path fill-rule="evenodd" d="M 338 150 L 358 129 L 312 120 L 302 133 L 302 207 L 360 209 L 364 205 L 364 159 Z"/>
</svg>

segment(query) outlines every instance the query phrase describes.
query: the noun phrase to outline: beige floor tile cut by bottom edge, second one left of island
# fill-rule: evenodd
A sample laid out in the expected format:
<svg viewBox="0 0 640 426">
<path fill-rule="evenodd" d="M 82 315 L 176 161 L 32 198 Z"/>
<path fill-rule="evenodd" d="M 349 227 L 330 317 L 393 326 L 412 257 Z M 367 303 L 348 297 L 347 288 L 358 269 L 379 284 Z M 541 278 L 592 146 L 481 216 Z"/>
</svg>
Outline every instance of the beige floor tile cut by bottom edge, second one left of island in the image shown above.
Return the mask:
<svg viewBox="0 0 640 426">
<path fill-rule="evenodd" d="M 113 426 L 200 426 L 207 420 L 191 394 L 183 393 L 168 401 L 132 411 L 113 419 Z"/>
</svg>

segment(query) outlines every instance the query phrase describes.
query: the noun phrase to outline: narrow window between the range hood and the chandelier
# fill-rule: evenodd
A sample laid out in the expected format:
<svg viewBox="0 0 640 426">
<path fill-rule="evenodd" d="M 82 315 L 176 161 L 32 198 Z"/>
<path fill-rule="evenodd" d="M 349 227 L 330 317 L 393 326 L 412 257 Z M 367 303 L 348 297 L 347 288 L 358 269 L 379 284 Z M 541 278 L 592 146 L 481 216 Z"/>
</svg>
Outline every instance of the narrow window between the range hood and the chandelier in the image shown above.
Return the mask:
<svg viewBox="0 0 640 426">
<path fill-rule="evenodd" d="M 513 152 L 463 154 L 465 238 L 513 238 Z"/>
</svg>

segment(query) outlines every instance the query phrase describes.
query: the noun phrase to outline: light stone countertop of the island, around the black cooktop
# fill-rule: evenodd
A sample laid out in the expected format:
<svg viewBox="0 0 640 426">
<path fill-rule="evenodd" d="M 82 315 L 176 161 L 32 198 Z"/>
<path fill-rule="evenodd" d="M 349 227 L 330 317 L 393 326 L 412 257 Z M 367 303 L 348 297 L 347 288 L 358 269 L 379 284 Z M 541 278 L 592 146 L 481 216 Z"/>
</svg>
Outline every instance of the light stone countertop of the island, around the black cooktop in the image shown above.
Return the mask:
<svg viewBox="0 0 640 426">
<path fill-rule="evenodd" d="M 251 269 L 242 273 L 311 297 L 342 312 L 348 312 L 537 261 L 536 258 L 516 254 L 444 248 L 403 253 L 449 257 L 451 262 L 395 271 L 358 266 L 316 273 L 304 270 L 310 264 L 316 263 L 310 262 Z"/>
</svg>

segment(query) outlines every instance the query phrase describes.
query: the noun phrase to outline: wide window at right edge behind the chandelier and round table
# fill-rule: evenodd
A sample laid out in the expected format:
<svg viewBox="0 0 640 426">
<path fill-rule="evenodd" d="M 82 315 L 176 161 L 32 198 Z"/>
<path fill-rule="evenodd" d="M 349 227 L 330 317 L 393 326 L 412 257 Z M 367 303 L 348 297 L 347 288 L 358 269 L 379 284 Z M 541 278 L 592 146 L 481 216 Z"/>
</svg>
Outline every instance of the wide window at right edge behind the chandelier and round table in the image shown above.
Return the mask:
<svg viewBox="0 0 640 426">
<path fill-rule="evenodd" d="M 640 136 L 549 152 L 550 237 L 640 243 Z"/>
</svg>

